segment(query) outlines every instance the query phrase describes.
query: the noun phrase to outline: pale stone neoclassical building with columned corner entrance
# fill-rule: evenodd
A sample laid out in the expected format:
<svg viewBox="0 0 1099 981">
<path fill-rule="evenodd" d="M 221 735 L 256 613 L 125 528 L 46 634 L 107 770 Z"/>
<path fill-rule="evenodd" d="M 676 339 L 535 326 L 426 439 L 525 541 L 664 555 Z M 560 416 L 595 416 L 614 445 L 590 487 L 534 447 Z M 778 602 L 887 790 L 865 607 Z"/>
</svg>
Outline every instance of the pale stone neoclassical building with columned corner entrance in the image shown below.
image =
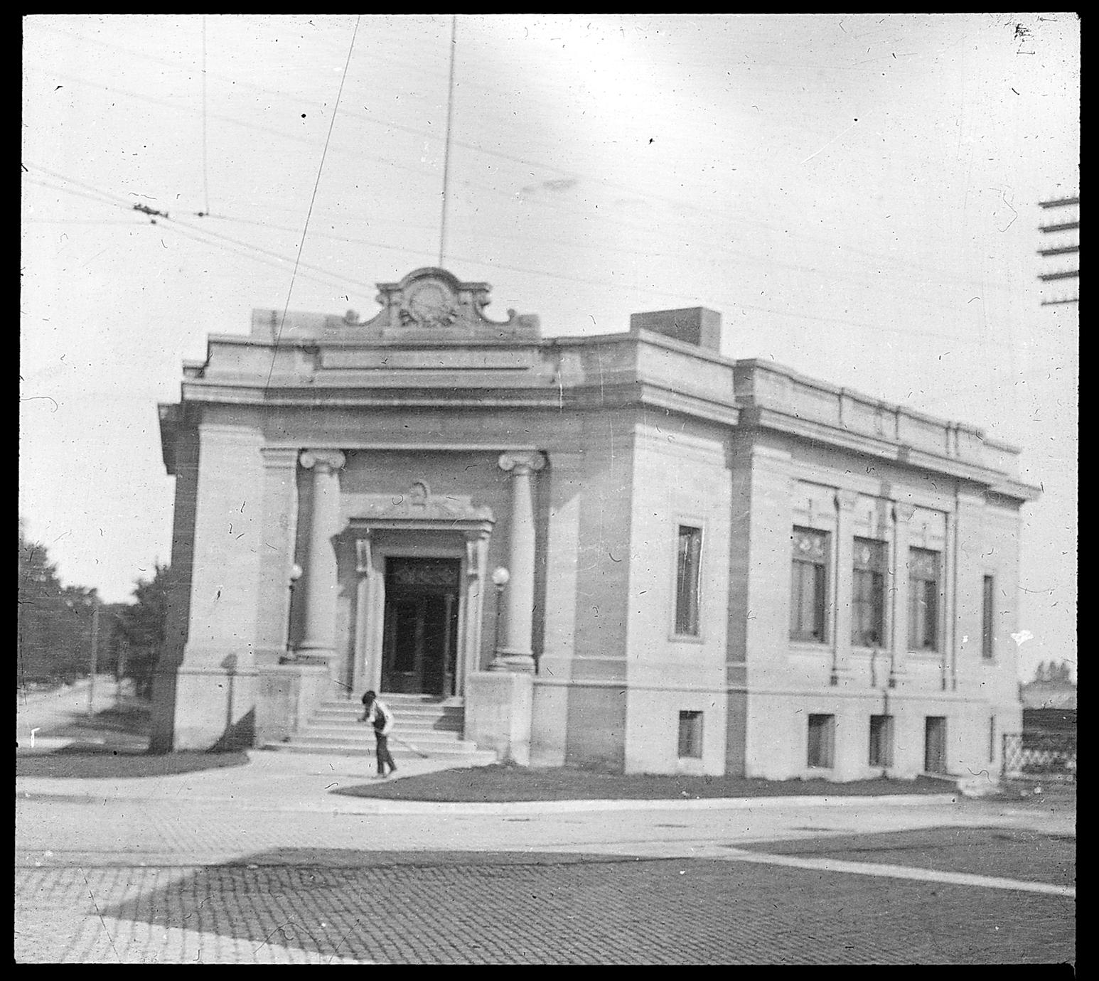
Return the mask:
<svg viewBox="0 0 1099 981">
<path fill-rule="evenodd" d="M 286 739 L 374 688 L 524 763 L 996 771 L 1018 450 L 724 358 L 709 310 L 544 338 L 442 269 L 379 290 L 365 322 L 256 311 L 160 406 L 154 748 Z"/>
</svg>

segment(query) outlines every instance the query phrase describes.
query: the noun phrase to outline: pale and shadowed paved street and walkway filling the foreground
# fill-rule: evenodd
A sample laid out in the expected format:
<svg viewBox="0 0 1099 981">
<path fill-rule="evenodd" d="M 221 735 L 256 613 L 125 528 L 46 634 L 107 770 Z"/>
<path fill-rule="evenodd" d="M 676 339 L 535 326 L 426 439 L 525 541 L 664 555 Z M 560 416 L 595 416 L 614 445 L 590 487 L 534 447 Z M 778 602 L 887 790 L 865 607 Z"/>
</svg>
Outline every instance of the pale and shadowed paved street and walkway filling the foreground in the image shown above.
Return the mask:
<svg viewBox="0 0 1099 981">
<path fill-rule="evenodd" d="M 370 769 L 18 776 L 16 962 L 1075 962 L 1075 795 L 341 793 Z"/>
</svg>

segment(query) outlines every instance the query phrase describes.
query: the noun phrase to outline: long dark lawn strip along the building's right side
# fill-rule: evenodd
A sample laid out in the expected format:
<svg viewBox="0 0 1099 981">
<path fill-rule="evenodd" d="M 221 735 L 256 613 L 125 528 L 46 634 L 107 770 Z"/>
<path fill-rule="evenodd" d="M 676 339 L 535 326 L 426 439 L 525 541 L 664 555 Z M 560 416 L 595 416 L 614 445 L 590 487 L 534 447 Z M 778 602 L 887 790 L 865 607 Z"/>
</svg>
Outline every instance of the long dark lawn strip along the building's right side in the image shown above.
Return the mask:
<svg viewBox="0 0 1099 981">
<path fill-rule="evenodd" d="M 462 803 L 567 800 L 687 800 L 703 798 L 853 796 L 953 793 L 950 780 L 747 780 L 740 777 L 668 777 L 606 773 L 573 767 L 534 769 L 490 766 L 440 770 L 392 781 L 341 788 L 348 796 Z"/>
</svg>

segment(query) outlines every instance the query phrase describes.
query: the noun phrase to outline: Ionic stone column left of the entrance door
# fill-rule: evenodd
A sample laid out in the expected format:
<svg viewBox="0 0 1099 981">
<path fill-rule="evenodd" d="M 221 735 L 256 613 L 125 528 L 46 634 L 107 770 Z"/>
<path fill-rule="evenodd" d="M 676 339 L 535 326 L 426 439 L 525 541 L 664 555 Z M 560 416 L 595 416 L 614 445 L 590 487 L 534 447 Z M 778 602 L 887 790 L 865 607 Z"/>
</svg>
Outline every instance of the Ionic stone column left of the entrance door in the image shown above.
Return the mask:
<svg viewBox="0 0 1099 981">
<path fill-rule="evenodd" d="M 328 662 L 335 656 L 336 553 L 332 537 L 340 531 L 338 449 L 307 449 L 301 466 L 313 471 L 313 503 L 306 565 L 304 636 L 299 658 Z"/>
</svg>

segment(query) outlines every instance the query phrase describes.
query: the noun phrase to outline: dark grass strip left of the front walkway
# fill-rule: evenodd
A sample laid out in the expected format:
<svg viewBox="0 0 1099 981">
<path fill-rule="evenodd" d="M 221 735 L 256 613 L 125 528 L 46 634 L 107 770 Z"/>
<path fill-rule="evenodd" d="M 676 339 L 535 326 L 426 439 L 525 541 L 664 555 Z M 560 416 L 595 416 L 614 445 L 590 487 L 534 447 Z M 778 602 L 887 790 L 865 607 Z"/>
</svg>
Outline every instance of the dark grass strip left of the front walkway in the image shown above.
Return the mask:
<svg viewBox="0 0 1099 981">
<path fill-rule="evenodd" d="M 170 753 L 149 755 L 142 749 L 119 749 L 110 746 L 75 743 L 53 753 L 15 756 L 16 777 L 79 777 L 120 779 L 131 777 L 168 777 L 243 767 L 246 753 Z"/>
</svg>

